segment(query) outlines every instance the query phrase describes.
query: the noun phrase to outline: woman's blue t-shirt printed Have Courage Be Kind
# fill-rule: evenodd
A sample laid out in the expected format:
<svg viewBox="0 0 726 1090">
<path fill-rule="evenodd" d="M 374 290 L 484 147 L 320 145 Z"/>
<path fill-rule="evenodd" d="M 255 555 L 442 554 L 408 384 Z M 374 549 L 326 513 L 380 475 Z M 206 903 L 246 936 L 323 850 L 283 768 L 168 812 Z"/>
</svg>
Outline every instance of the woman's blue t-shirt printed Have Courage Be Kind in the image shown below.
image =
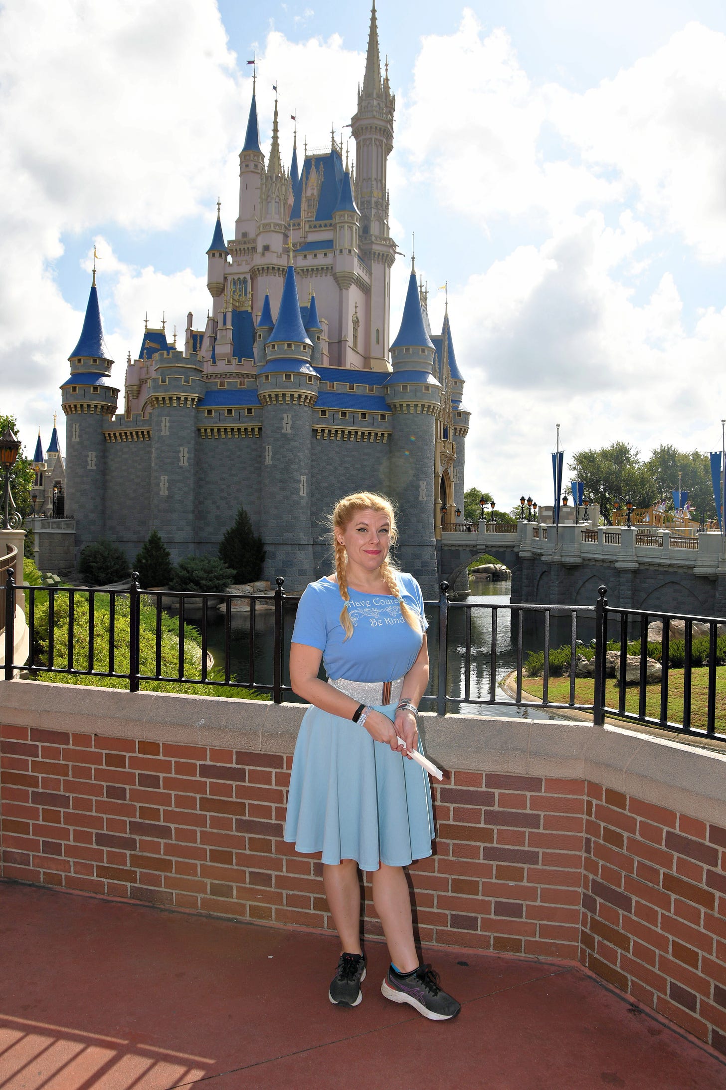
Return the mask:
<svg viewBox="0 0 726 1090">
<path fill-rule="evenodd" d="M 322 651 L 328 677 L 349 681 L 394 681 L 407 674 L 421 650 L 429 627 L 423 616 L 421 588 L 413 576 L 396 572 L 401 596 L 420 620 L 416 632 L 404 620 L 398 600 L 392 594 L 367 594 L 348 588 L 348 616 L 353 635 L 345 640 L 341 625 L 343 598 L 330 579 L 308 583 L 293 629 L 293 642 Z"/>
</svg>

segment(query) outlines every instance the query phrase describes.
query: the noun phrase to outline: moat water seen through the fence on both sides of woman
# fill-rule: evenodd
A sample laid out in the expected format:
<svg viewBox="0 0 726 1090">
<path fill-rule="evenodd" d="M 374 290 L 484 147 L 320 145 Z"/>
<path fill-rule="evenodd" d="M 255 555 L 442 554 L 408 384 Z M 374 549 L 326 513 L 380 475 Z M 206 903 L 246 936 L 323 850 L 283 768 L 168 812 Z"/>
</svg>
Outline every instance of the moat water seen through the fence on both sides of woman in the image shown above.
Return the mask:
<svg viewBox="0 0 726 1090">
<path fill-rule="evenodd" d="M 470 659 L 470 702 L 460 706 L 463 714 L 492 715 L 492 716 L 519 716 L 520 718 L 557 719 L 557 712 L 546 712 L 532 706 L 517 707 L 513 698 L 502 688 L 501 682 L 516 669 L 517 666 L 517 627 L 513 623 L 509 609 L 509 582 L 484 582 L 482 580 L 471 580 L 469 594 L 457 595 L 457 602 L 467 602 L 472 605 L 481 603 L 488 606 L 502 606 L 496 610 L 496 695 L 495 699 L 503 701 L 503 705 L 484 703 L 490 698 L 491 681 L 491 646 L 492 646 L 492 609 L 471 610 L 471 659 Z M 447 674 L 448 691 L 452 695 L 463 695 L 466 682 L 466 613 L 465 609 L 451 609 L 448 611 L 448 655 Z M 429 692 L 436 691 L 438 673 L 438 610 L 427 610 L 429 618 L 429 654 L 431 659 L 431 683 Z M 285 610 L 285 671 L 284 683 L 290 685 L 287 675 L 287 658 L 290 652 L 290 641 L 294 622 L 294 605 Z M 246 683 L 249 677 L 249 632 L 250 621 L 248 613 L 237 613 L 232 620 L 232 641 L 230 665 L 233 676 L 241 682 Z M 553 618 L 553 629 L 551 631 L 552 646 L 558 646 L 561 642 L 569 642 L 569 620 L 567 620 L 566 631 L 563 628 L 555 633 L 555 620 Z M 556 639 L 555 639 L 556 635 Z M 578 637 L 589 639 L 587 633 Z M 224 665 L 224 617 L 217 610 L 210 610 L 207 620 L 207 640 L 209 651 L 214 658 L 216 666 Z M 257 613 L 255 623 L 255 680 L 257 683 L 272 683 L 272 653 L 274 640 L 274 617 L 272 610 L 260 610 Z M 543 631 L 541 625 L 528 623 L 522 633 L 522 647 L 526 656 L 528 651 L 541 649 L 543 644 Z M 285 693 L 285 700 L 299 702 L 294 693 Z M 450 711 L 456 711 L 459 705 L 456 702 L 450 704 Z"/>
</svg>

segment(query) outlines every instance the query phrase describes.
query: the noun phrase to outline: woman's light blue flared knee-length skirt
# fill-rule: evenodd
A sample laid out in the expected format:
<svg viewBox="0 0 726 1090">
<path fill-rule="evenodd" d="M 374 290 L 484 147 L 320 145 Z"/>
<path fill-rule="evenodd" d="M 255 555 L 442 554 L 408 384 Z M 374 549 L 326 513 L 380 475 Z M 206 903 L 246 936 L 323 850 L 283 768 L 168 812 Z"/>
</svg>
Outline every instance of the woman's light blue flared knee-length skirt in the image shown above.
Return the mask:
<svg viewBox="0 0 726 1090">
<path fill-rule="evenodd" d="M 376 707 L 392 722 L 395 710 Z M 304 853 L 322 851 L 323 863 L 355 859 L 377 871 L 426 859 L 434 835 L 428 773 L 357 723 L 309 707 L 293 758 L 285 840 Z"/>
</svg>

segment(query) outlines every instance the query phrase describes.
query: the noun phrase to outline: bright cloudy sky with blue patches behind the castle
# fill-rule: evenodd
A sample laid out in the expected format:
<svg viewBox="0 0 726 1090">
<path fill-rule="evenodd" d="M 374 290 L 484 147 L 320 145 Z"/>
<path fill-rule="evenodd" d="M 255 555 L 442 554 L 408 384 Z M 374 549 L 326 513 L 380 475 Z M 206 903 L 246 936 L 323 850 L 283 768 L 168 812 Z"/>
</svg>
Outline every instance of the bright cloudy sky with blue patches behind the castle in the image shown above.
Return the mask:
<svg viewBox="0 0 726 1090">
<path fill-rule="evenodd" d="M 288 161 L 291 113 L 311 146 L 349 121 L 368 21 L 367 0 L 0 0 L 0 411 L 30 450 L 60 415 L 94 242 L 121 377 L 145 313 L 169 331 L 206 316 L 218 195 L 233 231 L 246 61 L 266 146 L 279 87 Z M 448 282 L 467 487 L 503 508 L 521 492 L 551 502 L 556 423 L 568 452 L 717 449 L 722 0 L 381 0 L 379 29 L 393 234 L 409 255 L 416 232 L 434 327 Z"/>
</svg>

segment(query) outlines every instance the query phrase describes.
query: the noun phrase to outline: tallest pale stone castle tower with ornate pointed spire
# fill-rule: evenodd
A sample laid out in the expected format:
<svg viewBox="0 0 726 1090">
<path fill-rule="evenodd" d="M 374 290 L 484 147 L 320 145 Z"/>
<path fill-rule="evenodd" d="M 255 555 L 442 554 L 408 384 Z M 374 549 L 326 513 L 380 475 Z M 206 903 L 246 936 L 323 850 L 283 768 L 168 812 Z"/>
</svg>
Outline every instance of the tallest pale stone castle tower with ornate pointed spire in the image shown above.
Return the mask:
<svg viewBox="0 0 726 1090">
<path fill-rule="evenodd" d="M 389 296 L 391 267 L 396 244 L 389 229 L 389 191 L 386 165 L 393 150 L 395 96 L 389 85 L 387 62 L 381 81 L 376 3 L 370 14 L 368 51 L 362 87 L 358 88 L 358 109 L 350 131 L 356 142 L 356 204 L 360 209 L 360 255 L 371 270 L 370 287 L 370 364 L 376 371 L 387 370 Z"/>
</svg>

